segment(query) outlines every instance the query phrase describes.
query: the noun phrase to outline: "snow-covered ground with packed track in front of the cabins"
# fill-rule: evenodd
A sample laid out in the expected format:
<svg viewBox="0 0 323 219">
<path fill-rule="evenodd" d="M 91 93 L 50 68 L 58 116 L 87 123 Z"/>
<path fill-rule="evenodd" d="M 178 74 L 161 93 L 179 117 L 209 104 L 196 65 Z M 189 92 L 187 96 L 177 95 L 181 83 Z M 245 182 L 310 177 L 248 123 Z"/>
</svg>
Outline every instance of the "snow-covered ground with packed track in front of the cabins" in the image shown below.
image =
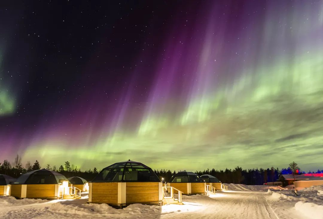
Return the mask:
<svg viewBox="0 0 323 219">
<path fill-rule="evenodd" d="M 87 204 L 83 194 L 77 200 L 39 200 L 0 196 L 0 218 L 320 218 L 323 219 L 323 186 L 299 191 L 279 186 L 226 184 L 230 191 L 214 195 L 183 195 L 184 205 L 151 206 L 133 204 L 115 209 L 106 204 Z"/>
</svg>

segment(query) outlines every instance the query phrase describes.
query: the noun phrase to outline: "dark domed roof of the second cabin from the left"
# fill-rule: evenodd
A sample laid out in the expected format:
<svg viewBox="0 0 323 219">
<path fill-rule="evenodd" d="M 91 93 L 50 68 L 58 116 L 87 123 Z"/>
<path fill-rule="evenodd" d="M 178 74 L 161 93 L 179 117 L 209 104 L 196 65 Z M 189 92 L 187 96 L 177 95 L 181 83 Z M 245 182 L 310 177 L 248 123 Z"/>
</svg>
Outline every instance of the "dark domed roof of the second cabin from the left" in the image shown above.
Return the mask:
<svg viewBox="0 0 323 219">
<path fill-rule="evenodd" d="M 14 184 L 58 184 L 62 181 L 68 181 L 68 179 L 55 171 L 40 169 L 19 176 Z"/>
</svg>

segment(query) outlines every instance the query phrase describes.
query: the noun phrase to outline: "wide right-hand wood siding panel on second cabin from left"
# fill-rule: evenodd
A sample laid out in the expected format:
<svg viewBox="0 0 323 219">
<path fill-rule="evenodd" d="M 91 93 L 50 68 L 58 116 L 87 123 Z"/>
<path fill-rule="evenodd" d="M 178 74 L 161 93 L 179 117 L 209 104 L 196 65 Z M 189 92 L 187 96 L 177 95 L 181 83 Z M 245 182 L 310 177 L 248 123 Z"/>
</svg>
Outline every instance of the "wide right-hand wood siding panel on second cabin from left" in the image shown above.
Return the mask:
<svg viewBox="0 0 323 219">
<path fill-rule="evenodd" d="M 55 184 L 27 185 L 26 198 L 52 198 L 55 197 Z"/>
</svg>

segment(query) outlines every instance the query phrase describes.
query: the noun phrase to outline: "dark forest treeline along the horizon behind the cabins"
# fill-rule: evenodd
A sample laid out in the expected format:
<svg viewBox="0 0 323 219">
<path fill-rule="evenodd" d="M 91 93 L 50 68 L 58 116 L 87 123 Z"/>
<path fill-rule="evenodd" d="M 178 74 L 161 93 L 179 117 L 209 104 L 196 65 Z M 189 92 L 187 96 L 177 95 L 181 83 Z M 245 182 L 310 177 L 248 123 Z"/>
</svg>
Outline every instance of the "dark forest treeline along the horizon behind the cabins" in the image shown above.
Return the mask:
<svg viewBox="0 0 323 219">
<path fill-rule="evenodd" d="M 92 180 L 99 172 L 97 168 L 88 169 L 85 171 L 81 171 L 77 166 L 71 165 L 69 161 L 66 161 L 63 165 L 50 166 L 46 164 L 45 166 L 41 166 L 39 162 L 36 160 L 34 164 L 29 161 L 23 165 L 21 162 L 21 157 L 16 156 L 15 160 L 11 163 L 8 160 L 4 160 L 0 163 L 0 174 L 5 174 L 9 176 L 13 176 L 15 178 L 19 177 L 22 174 L 30 172 L 32 170 L 38 170 L 41 168 L 57 171 L 67 178 L 71 176 L 79 176 L 88 181 Z M 160 178 L 164 178 L 164 181 L 168 182 L 171 177 L 176 174 L 176 171 L 171 170 L 154 170 L 157 176 Z M 222 183 L 242 183 L 246 185 L 262 185 L 266 182 L 274 182 L 278 179 L 281 174 L 292 174 L 292 170 L 288 168 L 283 168 L 279 170 L 278 168 L 256 168 L 256 169 L 242 169 L 241 167 L 235 167 L 234 169 L 225 169 L 225 170 L 215 170 L 207 169 L 203 171 L 195 171 L 198 175 L 209 174 L 217 177 Z M 299 173 L 305 173 L 298 171 Z M 323 173 L 323 170 L 317 170 L 316 172 L 309 173 Z"/>
</svg>

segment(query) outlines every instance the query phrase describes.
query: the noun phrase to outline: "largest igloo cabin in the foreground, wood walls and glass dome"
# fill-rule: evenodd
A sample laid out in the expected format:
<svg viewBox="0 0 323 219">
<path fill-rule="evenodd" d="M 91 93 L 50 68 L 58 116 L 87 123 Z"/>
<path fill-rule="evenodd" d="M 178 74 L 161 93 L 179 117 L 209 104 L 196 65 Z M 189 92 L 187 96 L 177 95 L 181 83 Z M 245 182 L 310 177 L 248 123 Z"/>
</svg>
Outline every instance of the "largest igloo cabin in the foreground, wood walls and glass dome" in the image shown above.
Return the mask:
<svg viewBox="0 0 323 219">
<path fill-rule="evenodd" d="M 89 182 L 89 202 L 117 208 L 134 203 L 162 205 L 162 182 L 142 163 L 131 160 L 115 163 Z"/>
</svg>

